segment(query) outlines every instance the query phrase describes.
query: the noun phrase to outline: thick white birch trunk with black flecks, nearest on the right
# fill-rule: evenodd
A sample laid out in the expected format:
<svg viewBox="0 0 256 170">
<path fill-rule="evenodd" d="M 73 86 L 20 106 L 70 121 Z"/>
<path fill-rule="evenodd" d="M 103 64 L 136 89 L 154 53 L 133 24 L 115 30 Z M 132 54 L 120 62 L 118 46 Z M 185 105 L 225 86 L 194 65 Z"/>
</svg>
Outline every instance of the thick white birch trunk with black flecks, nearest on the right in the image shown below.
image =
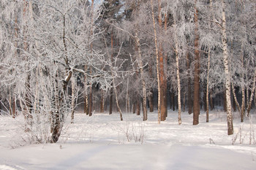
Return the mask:
<svg viewBox="0 0 256 170">
<path fill-rule="evenodd" d="M 230 70 L 227 53 L 227 34 L 226 34 L 226 14 L 225 14 L 225 0 L 222 0 L 222 48 L 223 48 L 223 63 L 225 68 L 225 89 L 227 98 L 227 134 L 233 134 L 233 117 L 232 106 L 230 98 Z"/>
</svg>

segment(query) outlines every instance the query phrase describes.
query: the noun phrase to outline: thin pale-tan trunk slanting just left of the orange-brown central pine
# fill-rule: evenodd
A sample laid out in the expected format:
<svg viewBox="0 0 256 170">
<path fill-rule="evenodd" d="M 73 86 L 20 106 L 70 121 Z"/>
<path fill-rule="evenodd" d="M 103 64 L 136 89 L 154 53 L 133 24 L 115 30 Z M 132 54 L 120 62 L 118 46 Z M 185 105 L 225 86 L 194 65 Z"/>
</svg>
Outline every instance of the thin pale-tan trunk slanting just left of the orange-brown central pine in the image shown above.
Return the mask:
<svg viewBox="0 0 256 170">
<path fill-rule="evenodd" d="M 154 44 L 156 47 L 156 61 L 157 61 L 157 88 L 158 88 L 158 104 L 157 104 L 157 109 L 158 109 L 158 123 L 160 124 L 161 122 L 161 111 L 160 111 L 160 96 L 161 96 L 161 92 L 160 92 L 160 78 L 159 78 L 159 56 L 158 56 L 158 47 L 157 47 L 157 29 L 156 29 L 156 23 L 154 20 L 154 7 L 153 7 L 153 0 L 151 0 L 151 12 L 152 12 L 152 20 L 153 20 L 153 26 L 154 26 Z"/>
</svg>

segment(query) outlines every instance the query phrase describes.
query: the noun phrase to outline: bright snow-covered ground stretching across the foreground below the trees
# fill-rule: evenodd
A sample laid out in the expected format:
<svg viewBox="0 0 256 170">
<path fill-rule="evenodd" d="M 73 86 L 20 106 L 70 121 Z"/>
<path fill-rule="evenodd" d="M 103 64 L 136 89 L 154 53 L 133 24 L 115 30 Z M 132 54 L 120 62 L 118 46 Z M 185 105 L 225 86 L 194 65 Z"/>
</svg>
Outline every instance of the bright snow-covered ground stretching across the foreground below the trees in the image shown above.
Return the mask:
<svg viewBox="0 0 256 170">
<path fill-rule="evenodd" d="M 141 116 L 95 113 L 75 114 L 67 120 L 56 144 L 23 145 L 23 117 L 0 116 L 0 169 L 256 169 L 256 116 L 239 122 L 227 136 L 224 112 L 205 113 L 200 124 L 192 115 L 168 111 L 157 124 L 157 112 Z M 241 132 L 241 133 L 240 133 Z M 249 144 L 251 142 L 251 144 Z"/>
</svg>

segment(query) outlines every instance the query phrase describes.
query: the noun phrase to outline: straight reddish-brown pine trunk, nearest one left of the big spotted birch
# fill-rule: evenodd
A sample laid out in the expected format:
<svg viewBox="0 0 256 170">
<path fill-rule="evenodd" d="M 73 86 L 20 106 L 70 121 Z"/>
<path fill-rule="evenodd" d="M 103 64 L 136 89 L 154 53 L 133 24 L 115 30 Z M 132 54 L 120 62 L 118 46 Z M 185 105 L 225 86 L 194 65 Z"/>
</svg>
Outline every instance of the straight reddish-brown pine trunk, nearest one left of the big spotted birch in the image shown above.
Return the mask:
<svg viewBox="0 0 256 170">
<path fill-rule="evenodd" d="M 197 4 L 197 0 L 195 0 Z M 195 77 L 194 77 L 194 100 L 193 100 L 193 125 L 199 123 L 200 115 L 200 54 L 199 54 L 199 34 L 198 34 L 198 12 L 195 7 Z"/>
</svg>

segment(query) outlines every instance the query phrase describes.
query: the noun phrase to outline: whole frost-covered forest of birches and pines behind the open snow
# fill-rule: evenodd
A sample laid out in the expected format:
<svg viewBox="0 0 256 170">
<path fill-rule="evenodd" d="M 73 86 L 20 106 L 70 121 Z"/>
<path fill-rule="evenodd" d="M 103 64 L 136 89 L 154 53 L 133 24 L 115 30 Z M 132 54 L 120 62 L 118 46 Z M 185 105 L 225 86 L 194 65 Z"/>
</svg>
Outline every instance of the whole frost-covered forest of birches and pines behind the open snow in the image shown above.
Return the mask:
<svg viewBox="0 0 256 170">
<path fill-rule="evenodd" d="M 141 142 L 127 115 L 137 128 L 214 120 L 232 144 L 256 144 L 255 18 L 255 0 L 1 0 L 1 127 L 54 144 L 104 115 Z"/>
</svg>

